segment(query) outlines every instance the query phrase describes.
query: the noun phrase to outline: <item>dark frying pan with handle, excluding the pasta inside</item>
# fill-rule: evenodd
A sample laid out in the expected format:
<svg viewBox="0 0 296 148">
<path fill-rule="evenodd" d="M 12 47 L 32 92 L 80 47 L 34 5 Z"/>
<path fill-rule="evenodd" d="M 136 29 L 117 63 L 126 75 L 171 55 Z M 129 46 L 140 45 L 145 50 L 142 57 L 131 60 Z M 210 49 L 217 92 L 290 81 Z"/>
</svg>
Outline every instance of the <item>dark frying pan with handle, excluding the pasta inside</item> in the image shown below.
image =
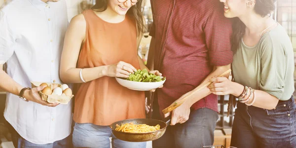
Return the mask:
<svg viewBox="0 0 296 148">
<path fill-rule="evenodd" d="M 127 142 L 147 142 L 160 138 L 166 130 L 166 127 L 171 123 L 171 117 L 167 117 L 164 121 L 148 118 L 139 118 L 139 119 L 126 119 L 112 123 L 109 127 L 112 129 L 113 135 L 123 141 Z M 125 123 L 134 123 L 134 124 L 147 124 L 150 126 L 160 125 L 160 129 L 153 132 L 147 133 L 126 133 L 116 131 L 116 124 L 121 125 Z"/>
</svg>

